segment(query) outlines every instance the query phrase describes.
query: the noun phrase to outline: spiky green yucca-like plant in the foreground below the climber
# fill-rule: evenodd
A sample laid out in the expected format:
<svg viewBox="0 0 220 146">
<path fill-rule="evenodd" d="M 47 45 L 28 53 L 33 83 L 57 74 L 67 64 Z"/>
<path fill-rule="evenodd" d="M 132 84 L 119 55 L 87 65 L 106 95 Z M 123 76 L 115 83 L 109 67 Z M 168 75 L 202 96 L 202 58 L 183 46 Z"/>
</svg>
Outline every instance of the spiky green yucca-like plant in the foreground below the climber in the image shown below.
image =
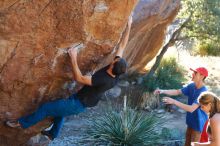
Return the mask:
<svg viewBox="0 0 220 146">
<path fill-rule="evenodd" d="M 109 111 L 92 119 L 88 134 L 94 141 L 110 142 L 111 145 L 152 145 L 157 142 L 156 128 L 161 125 L 153 114 L 127 109 Z"/>
</svg>

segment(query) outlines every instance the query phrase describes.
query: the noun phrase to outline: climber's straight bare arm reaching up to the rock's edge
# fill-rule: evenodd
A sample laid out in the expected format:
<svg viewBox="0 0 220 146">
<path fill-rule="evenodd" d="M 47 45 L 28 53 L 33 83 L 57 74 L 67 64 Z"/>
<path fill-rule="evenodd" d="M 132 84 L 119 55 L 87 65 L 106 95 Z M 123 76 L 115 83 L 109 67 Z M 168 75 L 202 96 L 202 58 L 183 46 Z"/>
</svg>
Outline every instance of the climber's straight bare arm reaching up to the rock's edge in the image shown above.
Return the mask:
<svg viewBox="0 0 220 146">
<path fill-rule="evenodd" d="M 128 43 L 129 34 L 131 30 L 132 16 L 129 17 L 128 24 L 126 26 L 125 32 L 123 33 L 124 38 L 121 40 L 119 44 L 119 48 L 116 52 L 116 56 L 122 57 L 124 49 Z"/>
</svg>

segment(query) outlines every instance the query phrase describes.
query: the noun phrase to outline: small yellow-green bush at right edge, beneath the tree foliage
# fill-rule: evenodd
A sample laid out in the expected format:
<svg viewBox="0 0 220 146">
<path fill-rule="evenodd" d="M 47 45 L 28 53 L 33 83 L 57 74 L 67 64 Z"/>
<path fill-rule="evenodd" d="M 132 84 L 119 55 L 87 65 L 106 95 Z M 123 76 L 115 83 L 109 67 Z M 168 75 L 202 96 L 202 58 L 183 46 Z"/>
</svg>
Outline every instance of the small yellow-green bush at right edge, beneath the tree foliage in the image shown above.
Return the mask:
<svg viewBox="0 0 220 146">
<path fill-rule="evenodd" d="M 196 54 L 201 56 L 220 56 L 220 44 L 215 44 L 212 41 L 201 42 L 197 46 Z"/>
</svg>

